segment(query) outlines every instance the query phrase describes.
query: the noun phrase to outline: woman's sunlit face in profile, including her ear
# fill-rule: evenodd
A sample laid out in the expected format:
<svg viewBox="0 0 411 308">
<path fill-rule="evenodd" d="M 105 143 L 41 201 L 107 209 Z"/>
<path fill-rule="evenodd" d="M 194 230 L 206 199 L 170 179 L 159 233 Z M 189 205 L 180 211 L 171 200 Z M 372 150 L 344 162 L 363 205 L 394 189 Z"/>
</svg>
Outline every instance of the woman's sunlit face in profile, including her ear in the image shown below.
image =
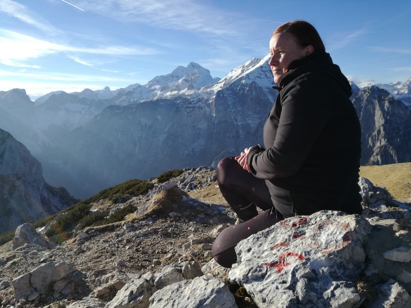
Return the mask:
<svg viewBox="0 0 411 308">
<path fill-rule="evenodd" d="M 274 82 L 278 84 L 284 76 L 291 61 L 304 58 L 311 54 L 306 50 L 311 45 L 301 48 L 296 42 L 296 37 L 291 33 L 275 33 L 270 40 L 271 59 L 268 64 L 271 67 Z M 311 50 L 311 49 L 310 49 Z"/>
</svg>

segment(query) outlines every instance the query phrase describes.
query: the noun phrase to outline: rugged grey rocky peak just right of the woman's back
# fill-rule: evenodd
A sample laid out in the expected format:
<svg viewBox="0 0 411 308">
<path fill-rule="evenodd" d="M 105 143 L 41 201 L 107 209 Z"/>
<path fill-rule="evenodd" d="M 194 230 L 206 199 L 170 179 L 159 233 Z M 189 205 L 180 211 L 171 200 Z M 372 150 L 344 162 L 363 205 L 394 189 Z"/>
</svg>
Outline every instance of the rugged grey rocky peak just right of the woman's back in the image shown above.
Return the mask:
<svg viewBox="0 0 411 308">
<path fill-rule="evenodd" d="M 361 165 L 411 160 L 411 112 L 388 91 L 366 87 L 353 98 L 362 131 Z"/>
</svg>

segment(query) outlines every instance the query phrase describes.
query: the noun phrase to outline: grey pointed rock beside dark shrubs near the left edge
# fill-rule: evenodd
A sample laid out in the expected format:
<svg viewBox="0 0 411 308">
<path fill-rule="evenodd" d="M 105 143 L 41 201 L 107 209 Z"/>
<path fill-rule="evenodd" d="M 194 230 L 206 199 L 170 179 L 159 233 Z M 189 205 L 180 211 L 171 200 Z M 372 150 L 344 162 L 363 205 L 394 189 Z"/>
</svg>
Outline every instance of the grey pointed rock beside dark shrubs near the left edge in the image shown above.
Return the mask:
<svg viewBox="0 0 411 308">
<path fill-rule="evenodd" d="M 36 228 L 29 223 L 22 224 L 17 227 L 16 233 L 12 240 L 11 250 L 15 250 L 24 244 L 36 245 L 51 249 L 54 244 L 46 240 L 42 235 L 38 234 Z"/>
</svg>

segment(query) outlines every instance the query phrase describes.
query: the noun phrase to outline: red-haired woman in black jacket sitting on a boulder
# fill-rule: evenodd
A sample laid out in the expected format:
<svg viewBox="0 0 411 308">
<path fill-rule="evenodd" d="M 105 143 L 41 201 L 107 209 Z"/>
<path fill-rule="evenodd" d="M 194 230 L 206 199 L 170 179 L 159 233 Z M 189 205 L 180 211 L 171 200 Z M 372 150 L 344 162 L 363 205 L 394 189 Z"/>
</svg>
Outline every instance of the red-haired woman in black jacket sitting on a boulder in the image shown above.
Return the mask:
<svg viewBox="0 0 411 308">
<path fill-rule="evenodd" d="M 362 212 L 361 130 L 351 86 L 306 21 L 279 26 L 269 65 L 279 91 L 260 145 L 226 157 L 219 188 L 240 224 L 224 229 L 213 257 L 231 268 L 238 242 L 284 218 L 319 210 Z M 258 214 L 257 208 L 264 210 Z"/>
</svg>

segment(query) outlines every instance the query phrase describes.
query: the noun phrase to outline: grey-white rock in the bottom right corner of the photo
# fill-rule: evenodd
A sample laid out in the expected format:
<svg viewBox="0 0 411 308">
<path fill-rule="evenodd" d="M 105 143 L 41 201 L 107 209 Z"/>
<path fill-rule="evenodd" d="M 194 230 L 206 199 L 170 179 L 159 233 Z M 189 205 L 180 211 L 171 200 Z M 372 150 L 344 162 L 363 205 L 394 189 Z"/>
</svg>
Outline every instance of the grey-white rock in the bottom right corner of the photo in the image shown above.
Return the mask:
<svg viewBox="0 0 411 308">
<path fill-rule="evenodd" d="M 411 308 L 411 296 L 393 279 L 380 285 L 376 294 L 369 308 Z"/>
</svg>

